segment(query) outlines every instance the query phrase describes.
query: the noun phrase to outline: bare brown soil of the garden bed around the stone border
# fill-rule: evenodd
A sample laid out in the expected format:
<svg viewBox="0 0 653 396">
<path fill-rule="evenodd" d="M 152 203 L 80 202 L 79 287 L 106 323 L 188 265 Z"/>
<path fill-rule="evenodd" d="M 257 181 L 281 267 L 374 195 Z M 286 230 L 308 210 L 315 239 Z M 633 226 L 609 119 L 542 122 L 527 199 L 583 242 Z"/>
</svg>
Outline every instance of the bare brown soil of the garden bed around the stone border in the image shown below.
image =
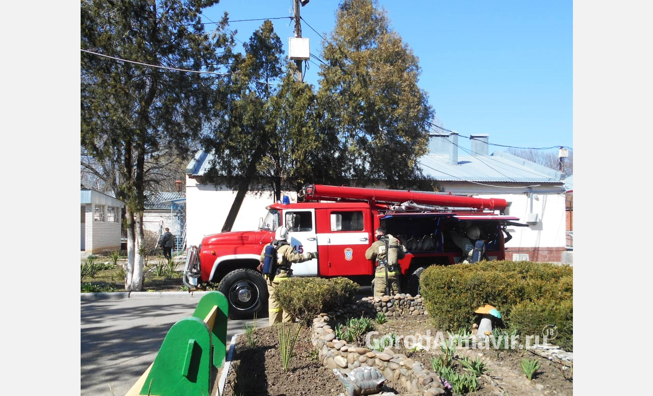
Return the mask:
<svg viewBox="0 0 653 396">
<path fill-rule="evenodd" d="M 430 329 L 435 337 L 437 329 L 428 324 L 426 318 L 390 319 L 385 324 L 375 325 L 381 337 L 383 334 L 427 335 Z M 444 333 L 446 334 L 446 332 Z M 247 343 L 245 333 L 238 335 L 231 370 L 227 376 L 224 396 L 236 395 L 339 395 L 345 392 L 342 383 L 329 369 L 317 361 L 317 350 L 310 342 L 310 329 L 302 328 L 295 346 L 295 354 L 290 361 L 289 370 L 283 371 L 281 354 L 278 348 L 277 327 L 260 327 L 253 333 L 253 343 Z M 405 354 L 422 363 L 431 370 L 431 360 L 439 350 L 407 351 L 394 347 L 395 353 Z M 555 363 L 526 350 L 458 350 L 458 356 L 476 356 L 486 364 L 487 374 L 479 378 L 479 389 L 470 393 L 475 396 L 496 395 L 564 395 L 573 394 L 572 369 L 561 363 Z M 522 359 L 537 359 L 540 369 L 532 380 L 522 373 Z M 456 359 L 454 359 L 454 362 Z M 460 364 L 454 368 L 460 370 Z M 238 373 L 238 377 L 236 376 Z M 234 391 L 235 390 L 235 391 Z M 399 382 L 385 382 L 382 392 L 396 394 L 408 393 Z M 215 391 L 214 391 L 215 393 Z"/>
</svg>

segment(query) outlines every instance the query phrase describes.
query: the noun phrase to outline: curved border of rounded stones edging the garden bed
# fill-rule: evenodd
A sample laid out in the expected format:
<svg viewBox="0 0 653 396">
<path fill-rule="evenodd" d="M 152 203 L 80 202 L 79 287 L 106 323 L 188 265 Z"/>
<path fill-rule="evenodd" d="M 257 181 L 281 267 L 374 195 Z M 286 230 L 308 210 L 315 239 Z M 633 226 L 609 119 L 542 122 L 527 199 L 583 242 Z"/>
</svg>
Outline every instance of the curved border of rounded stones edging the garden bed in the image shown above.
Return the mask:
<svg viewBox="0 0 653 396">
<path fill-rule="evenodd" d="M 394 354 L 389 348 L 376 352 L 338 340 L 334 329 L 329 325 L 335 323 L 338 316 L 352 317 L 351 313 L 360 316 L 390 312 L 389 316 L 394 318 L 426 314 L 423 302 L 419 294 L 415 297 L 410 294 L 366 297 L 331 314 L 320 314 L 313 319 L 311 326 L 311 343 L 318 350 L 320 363 L 328 369 L 338 369 L 342 373 L 349 373 L 361 366 L 376 367 L 387 380 L 398 381 L 408 389 L 409 393 L 404 396 L 444 395 L 445 387 L 438 373 L 424 369 L 422 363 L 413 361 L 404 354 Z"/>
</svg>

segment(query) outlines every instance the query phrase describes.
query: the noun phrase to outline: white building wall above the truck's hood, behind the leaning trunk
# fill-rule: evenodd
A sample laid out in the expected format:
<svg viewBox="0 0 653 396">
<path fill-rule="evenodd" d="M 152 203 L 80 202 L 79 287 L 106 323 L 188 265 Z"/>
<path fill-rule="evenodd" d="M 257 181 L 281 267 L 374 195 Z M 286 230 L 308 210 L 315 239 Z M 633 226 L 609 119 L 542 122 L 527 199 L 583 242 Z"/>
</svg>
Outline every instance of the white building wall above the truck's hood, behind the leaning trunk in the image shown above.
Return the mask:
<svg viewBox="0 0 653 396">
<path fill-rule="evenodd" d="M 285 192 L 291 202 L 296 202 L 295 192 Z M 217 234 L 225 224 L 236 192 L 231 189 L 215 189 L 213 185 L 200 185 L 186 177 L 186 240 L 187 246 L 199 245 L 204 236 Z M 256 230 L 259 219 L 265 217 L 266 206 L 274 203 L 272 192 L 254 194 L 247 192 L 232 231 Z"/>
</svg>

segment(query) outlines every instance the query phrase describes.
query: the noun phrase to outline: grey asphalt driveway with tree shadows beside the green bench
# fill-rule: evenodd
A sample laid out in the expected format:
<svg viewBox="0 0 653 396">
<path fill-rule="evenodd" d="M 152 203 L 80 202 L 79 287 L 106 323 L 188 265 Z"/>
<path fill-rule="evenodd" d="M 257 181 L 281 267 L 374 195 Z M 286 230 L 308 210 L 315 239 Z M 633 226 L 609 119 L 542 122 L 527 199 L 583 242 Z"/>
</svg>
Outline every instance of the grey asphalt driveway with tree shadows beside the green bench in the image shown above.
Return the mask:
<svg viewBox="0 0 653 396">
<path fill-rule="evenodd" d="M 120 294 L 114 294 L 119 296 Z M 201 296 L 155 294 L 81 299 L 81 395 L 123 396 L 150 366 L 173 324 L 193 314 Z M 185 296 L 184 296 L 185 295 Z M 250 320 L 229 320 L 227 343 Z M 260 318 L 257 326 L 267 326 Z"/>
</svg>

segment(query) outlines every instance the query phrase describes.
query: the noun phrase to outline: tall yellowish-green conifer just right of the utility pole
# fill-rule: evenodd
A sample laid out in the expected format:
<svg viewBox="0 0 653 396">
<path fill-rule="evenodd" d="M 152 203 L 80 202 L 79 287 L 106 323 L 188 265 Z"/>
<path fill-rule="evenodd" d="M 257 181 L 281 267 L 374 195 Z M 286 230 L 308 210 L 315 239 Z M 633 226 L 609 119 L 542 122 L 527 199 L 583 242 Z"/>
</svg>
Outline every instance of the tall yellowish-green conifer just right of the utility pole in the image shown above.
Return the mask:
<svg viewBox="0 0 653 396">
<path fill-rule="evenodd" d="M 344 0 L 325 43 L 318 102 L 323 132 L 336 134 L 343 174 L 390 188 L 415 185 L 434 111 L 417 82 L 413 51 L 375 0 Z M 423 178 L 423 177 L 422 177 Z"/>
</svg>

